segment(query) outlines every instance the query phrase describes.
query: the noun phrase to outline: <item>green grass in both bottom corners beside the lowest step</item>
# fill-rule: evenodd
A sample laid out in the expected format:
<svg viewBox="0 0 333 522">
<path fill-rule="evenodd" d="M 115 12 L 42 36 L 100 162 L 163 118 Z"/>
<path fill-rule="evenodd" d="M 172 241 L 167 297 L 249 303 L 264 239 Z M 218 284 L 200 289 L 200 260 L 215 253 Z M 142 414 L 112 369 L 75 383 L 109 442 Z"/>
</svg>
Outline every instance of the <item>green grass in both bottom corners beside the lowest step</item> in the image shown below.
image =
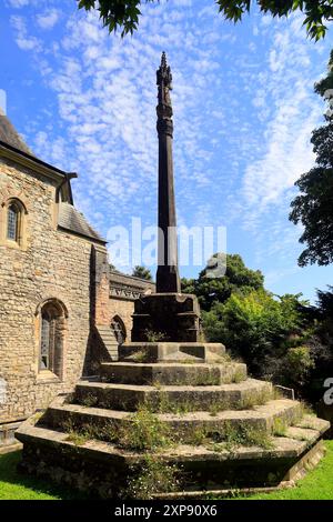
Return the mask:
<svg viewBox="0 0 333 522">
<path fill-rule="evenodd" d="M 327 453 L 315 470 L 307 473 L 296 488 L 244 500 L 332 500 L 333 499 L 333 441 L 325 441 Z M 84 499 L 73 490 L 52 485 L 17 472 L 21 452 L 0 455 L 0 500 L 71 500 Z"/>
</svg>

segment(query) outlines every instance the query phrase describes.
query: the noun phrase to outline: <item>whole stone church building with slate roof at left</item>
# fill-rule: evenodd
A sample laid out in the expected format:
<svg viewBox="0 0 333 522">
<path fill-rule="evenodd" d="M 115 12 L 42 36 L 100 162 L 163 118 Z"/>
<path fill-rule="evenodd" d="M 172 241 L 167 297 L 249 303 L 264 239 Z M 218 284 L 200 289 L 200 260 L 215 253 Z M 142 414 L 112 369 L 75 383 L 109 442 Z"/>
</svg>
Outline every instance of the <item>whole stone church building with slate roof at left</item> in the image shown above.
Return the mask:
<svg viewBox="0 0 333 522">
<path fill-rule="evenodd" d="M 107 241 L 73 203 L 72 180 L 34 157 L 0 112 L 0 449 L 130 338 L 154 284 L 111 270 Z"/>
</svg>

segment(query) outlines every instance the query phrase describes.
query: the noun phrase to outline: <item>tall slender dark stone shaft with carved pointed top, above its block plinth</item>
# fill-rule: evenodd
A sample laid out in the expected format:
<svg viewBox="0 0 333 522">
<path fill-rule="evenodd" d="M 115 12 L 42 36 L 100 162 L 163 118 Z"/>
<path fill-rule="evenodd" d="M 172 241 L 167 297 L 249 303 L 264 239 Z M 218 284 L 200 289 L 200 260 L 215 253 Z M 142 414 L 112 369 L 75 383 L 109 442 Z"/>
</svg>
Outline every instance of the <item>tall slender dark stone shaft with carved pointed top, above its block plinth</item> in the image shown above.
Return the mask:
<svg viewBox="0 0 333 522">
<path fill-rule="evenodd" d="M 173 183 L 173 122 L 170 90 L 172 74 L 162 53 L 157 72 L 159 86 L 158 134 L 159 134 L 159 267 L 157 273 L 158 293 L 180 293 L 178 270 L 176 217 Z"/>
</svg>

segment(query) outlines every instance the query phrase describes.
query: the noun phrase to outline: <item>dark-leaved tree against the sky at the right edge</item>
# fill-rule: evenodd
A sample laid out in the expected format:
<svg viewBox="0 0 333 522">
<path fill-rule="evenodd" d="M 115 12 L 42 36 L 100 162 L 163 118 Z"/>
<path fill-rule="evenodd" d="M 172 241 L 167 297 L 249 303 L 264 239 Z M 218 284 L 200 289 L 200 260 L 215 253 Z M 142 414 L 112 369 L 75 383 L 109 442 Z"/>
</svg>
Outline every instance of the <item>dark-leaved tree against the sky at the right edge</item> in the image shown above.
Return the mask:
<svg viewBox="0 0 333 522">
<path fill-rule="evenodd" d="M 314 90 L 323 98 L 333 99 L 333 51 L 329 73 Z M 290 220 L 303 224 L 300 242 L 307 245 L 299 258 L 301 267 L 333 261 L 333 110 L 324 118 L 326 124 L 314 130 L 311 139 L 316 164 L 296 181 L 301 194 L 291 203 Z"/>
</svg>

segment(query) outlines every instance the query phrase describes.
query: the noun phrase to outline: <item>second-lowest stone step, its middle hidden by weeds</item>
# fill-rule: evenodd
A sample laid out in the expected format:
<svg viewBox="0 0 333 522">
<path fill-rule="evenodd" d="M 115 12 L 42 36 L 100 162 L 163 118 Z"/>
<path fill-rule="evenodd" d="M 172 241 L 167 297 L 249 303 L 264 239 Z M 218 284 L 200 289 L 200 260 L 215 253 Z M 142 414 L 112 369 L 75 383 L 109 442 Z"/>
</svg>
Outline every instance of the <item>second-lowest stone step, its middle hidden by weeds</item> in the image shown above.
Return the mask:
<svg viewBox="0 0 333 522">
<path fill-rule="evenodd" d="M 270 401 L 253 410 L 228 410 L 214 415 L 208 411 L 189 412 L 183 415 L 157 414 L 157 418 L 169 428 L 171 436 L 183 442 L 190 442 L 199 432 L 219 434 L 229 428 L 243 426 L 272 434 L 276 426 L 279 430 L 281 426 L 286 429 L 290 424 L 300 422 L 301 416 L 301 404 L 289 399 Z M 97 439 L 112 440 L 114 431 L 120 428 L 130 429 L 133 419 L 133 413 L 67 404 L 63 398 L 57 398 L 40 422 L 53 429 L 73 429 L 83 433 L 85 430 L 88 433 L 93 433 Z"/>
</svg>

